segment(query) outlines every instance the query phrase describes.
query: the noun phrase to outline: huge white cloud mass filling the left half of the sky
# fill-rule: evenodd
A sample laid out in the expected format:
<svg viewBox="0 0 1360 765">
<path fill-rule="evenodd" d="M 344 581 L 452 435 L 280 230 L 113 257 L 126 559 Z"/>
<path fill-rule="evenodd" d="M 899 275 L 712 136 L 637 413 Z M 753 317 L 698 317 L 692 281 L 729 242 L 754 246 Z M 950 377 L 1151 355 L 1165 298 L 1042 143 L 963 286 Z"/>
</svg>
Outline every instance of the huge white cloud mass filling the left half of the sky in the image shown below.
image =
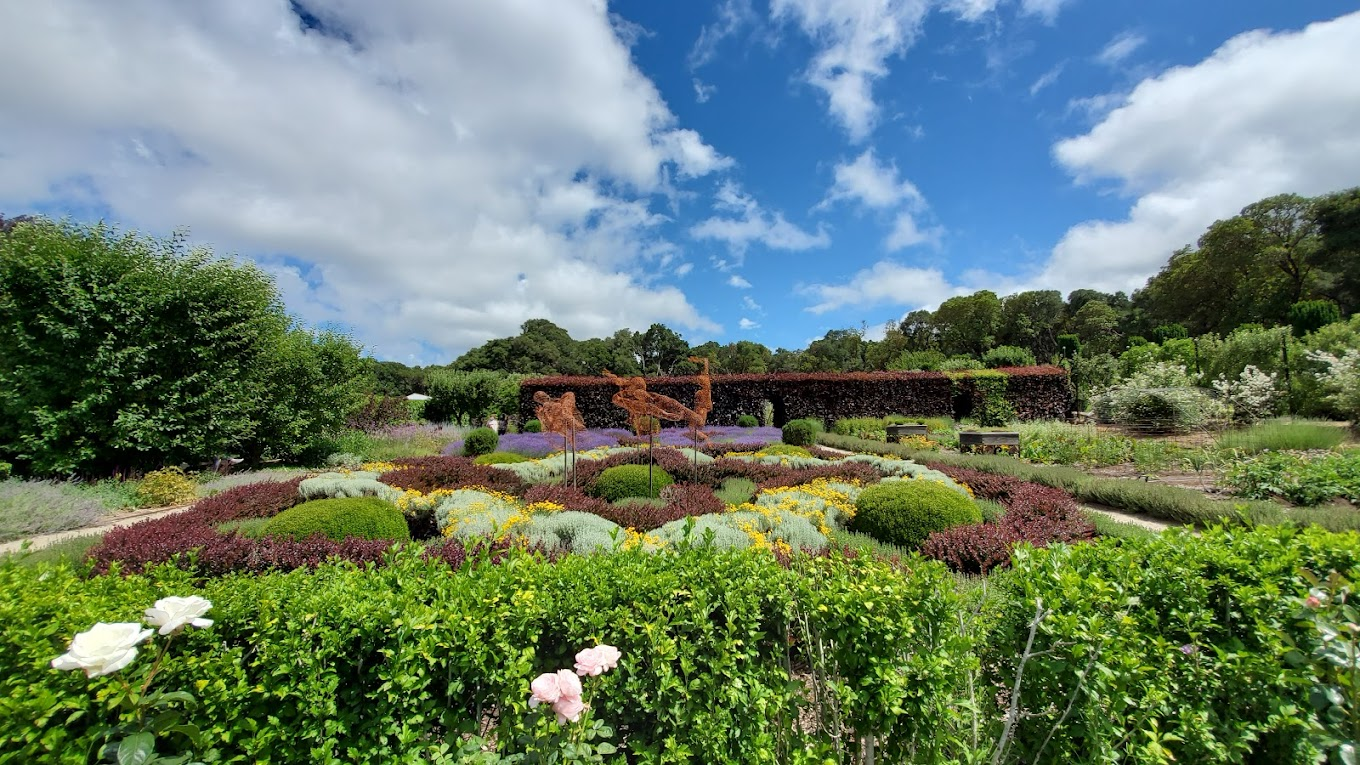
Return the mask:
<svg viewBox="0 0 1360 765">
<path fill-rule="evenodd" d="M 388 358 L 447 361 L 530 317 L 717 329 L 641 274 L 675 256 L 649 210 L 666 166 L 732 161 L 676 125 L 605 3 L 313 12 L 324 30 L 276 0 L 12 4 L 0 208 L 79 192 L 129 226 L 287 253 L 290 310 L 339 313 Z"/>
</svg>

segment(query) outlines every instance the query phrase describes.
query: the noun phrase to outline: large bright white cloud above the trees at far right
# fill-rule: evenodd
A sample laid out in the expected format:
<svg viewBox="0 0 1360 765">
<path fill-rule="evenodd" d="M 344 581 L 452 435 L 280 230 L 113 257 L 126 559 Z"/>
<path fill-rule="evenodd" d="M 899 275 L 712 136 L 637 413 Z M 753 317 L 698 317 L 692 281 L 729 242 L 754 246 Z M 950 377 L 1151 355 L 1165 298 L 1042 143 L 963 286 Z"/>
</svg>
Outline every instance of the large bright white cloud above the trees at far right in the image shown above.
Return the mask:
<svg viewBox="0 0 1360 765">
<path fill-rule="evenodd" d="M 1360 14 L 1300 31 L 1251 31 L 1193 67 L 1140 83 L 1054 154 L 1078 182 L 1137 200 L 1123 221 L 1073 226 L 1038 279 L 1127 290 L 1216 219 L 1266 196 L 1318 195 L 1360 177 Z"/>
</svg>

